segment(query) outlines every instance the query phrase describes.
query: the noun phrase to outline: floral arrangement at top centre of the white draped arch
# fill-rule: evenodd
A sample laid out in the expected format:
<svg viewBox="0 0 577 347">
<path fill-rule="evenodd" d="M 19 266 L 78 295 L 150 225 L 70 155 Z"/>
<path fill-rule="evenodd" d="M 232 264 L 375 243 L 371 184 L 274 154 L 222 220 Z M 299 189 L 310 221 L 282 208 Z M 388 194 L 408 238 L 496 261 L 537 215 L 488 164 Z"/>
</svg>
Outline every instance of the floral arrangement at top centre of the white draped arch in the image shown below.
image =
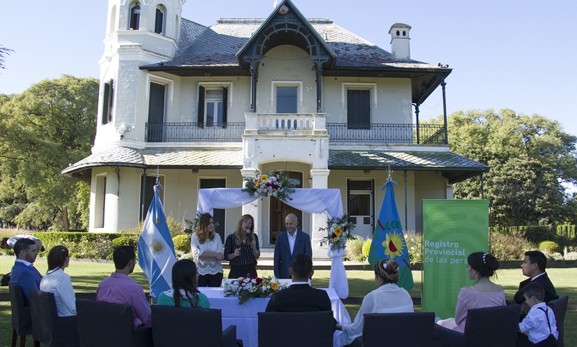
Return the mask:
<svg viewBox="0 0 577 347">
<path fill-rule="evenodd" d="M 255 172 L 255 177 L 243 177 L 244 188 L 250 196 L 261 196 L 266 198 L 269 195 L 276 196 L 280 200 L 293 200 L 291 194 L 295 192 L 295 185 L 289 180 L 289 173 L 286 171 L 268 171 L 267 173 Z"/>
</svg>

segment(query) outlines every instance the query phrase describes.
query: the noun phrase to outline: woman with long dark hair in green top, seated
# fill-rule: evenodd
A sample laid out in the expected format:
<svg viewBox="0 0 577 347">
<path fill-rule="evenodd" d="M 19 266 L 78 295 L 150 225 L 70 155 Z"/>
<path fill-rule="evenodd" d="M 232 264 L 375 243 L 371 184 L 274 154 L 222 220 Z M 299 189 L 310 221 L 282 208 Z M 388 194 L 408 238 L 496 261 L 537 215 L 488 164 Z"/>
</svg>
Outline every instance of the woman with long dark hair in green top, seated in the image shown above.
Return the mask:
<svg viewBox="0 0 577 347">
<path fill-rule="evenodd" d="M 196 264 L 190 259 L 181 259 L 172 266 L 172 289 L 162 292 L 158 305 L 210 308 L 205 294 L 199 292 L 199 272 Z M 176 293 L 176 294 L 175 294 Z"/>
</svg>

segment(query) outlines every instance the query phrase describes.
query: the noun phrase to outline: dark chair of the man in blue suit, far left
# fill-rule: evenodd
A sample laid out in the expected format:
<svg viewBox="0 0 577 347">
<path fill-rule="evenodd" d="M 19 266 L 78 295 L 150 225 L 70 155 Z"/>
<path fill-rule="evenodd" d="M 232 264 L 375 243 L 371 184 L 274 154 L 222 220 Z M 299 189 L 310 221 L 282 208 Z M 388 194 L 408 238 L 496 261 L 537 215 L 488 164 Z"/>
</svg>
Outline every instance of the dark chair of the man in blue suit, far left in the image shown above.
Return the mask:
<svg viewBox="0 0 577 347">
<path fill-rule="evenodd" d="M 26 346 L 26 335 L 32 334 L 32 317 L 30 316 L 30 306 L 26 306 L 24 293 L 19 285 L 8 284 L 10 292 L 10 308 L 12 309 L 12 347 L 16 347 L 18 337 L 20 346 Z"/>
</svg>

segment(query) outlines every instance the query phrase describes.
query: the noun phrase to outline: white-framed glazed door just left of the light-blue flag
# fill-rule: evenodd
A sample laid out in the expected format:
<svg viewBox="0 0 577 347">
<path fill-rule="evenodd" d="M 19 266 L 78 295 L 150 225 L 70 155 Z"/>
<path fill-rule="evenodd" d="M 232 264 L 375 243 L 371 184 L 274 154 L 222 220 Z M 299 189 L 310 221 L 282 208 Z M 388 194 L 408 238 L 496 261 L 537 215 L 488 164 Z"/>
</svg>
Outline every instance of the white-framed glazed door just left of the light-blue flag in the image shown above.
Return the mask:
<svg viewBox="0 0 577 347">
<path fill-rule="evenodd" d="M 374 230 L 374 205 L 372 180 L 348 180 L 347 211 L 356 224 L 353 234 L 372 237 Z"/>
</svg>

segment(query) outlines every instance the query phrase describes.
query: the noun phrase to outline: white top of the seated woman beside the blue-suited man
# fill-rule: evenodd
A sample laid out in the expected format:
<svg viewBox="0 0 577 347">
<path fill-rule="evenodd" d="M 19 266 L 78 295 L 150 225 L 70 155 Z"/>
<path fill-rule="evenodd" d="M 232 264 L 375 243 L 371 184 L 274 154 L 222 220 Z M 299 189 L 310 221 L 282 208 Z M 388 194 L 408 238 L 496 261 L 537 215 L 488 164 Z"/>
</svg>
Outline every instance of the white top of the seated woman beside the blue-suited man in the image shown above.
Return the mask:
<svg viewBox="0 0 577 347">
<path fill-rule="evenodd" d="M 72 288 L 70 275 L 61 268 L 46 272 L 40 281 L 40 290 L 54 293 L 59 317 L 76 315 L 76 295 Z"/>
</svg>

